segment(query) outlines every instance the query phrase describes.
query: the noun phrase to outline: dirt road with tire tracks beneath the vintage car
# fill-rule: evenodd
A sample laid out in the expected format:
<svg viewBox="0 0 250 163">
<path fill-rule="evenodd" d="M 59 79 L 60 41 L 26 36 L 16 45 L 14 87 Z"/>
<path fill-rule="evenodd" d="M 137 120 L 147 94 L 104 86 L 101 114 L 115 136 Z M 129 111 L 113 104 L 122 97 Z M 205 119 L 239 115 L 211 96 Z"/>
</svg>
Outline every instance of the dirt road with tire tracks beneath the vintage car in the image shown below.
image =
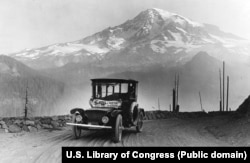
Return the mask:
<svg viewBox="0 0 250 163">
<path fill-rule="evenodd" d="M 249 123 L 227 117 L 145 121 L 142 133 L 126 130 L 118 144 L 111 141 L 111 132 L 101 131 L 84 131 L 75 140 L 71 127 L 18 134 L 1 131 L 0 162 L 61 162 L 62 146 L 249 146 L 249 133 Z"/>
</svg>

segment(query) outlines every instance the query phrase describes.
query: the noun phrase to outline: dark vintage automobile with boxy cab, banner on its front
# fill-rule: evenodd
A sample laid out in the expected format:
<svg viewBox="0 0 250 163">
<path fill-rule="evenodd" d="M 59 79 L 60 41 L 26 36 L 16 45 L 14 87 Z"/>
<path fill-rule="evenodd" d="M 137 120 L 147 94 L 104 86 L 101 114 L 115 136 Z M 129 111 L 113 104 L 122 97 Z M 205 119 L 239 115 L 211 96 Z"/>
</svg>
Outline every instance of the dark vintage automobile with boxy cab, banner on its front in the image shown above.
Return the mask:
<svg viewBox="0 0 250 163">
<path fill-rule="evenodd" d="M 91 79 L 91 108 L 74 108 L 72 115 L 73 134 L 81 136 L 82 130 L 108 129 L 114 133 L 114 142 L 120 142 L 125 128 L 135 127 L 142 131 L 144 109 L 137 103 L 138 81 L 125 79 Z"/>
</svg>

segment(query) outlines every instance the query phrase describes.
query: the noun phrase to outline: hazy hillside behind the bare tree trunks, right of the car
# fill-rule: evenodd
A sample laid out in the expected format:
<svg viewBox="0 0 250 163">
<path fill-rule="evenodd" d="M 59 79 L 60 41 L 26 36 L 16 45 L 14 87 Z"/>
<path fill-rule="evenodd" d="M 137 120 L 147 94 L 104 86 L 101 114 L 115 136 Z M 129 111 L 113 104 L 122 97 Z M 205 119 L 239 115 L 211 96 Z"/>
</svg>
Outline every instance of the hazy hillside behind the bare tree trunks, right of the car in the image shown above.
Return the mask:
<svg viewBox="0 0 250 163">
<path fill-rule="evenodd" d="M 219 68 L 222 62 L 205 52 L 200 52 L 184 65 L 168 68 L 154 66 L 140 71 L 115 73 L 109 77 L 133 78 L 139 81 L 139 101 L 142 107 L 158 109 L 158 98 L 162 109 L 172 104 L 172 89 L 175 74 L 180 76 L 179 103 L 181 111 L 199 111 L 199 91 L 206 111 L 219 110 Z M 226 64 L 230 76 L 229 107 L 235 110 L 249 93 L 249 77 L 240 66 Z"/>
</svg>

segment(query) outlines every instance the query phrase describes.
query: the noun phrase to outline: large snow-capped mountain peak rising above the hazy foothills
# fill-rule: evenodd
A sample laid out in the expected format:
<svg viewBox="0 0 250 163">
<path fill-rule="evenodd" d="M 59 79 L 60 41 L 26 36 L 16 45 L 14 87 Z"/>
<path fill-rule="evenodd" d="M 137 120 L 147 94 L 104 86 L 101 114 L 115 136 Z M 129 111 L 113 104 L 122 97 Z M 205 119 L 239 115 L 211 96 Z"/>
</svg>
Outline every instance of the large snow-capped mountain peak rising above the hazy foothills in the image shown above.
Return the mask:
<svg viewBox="0 0 250 163">
<path fill-rule="evenodd" d="M 199 51 L 228 61 L 246 61 L 250 44 L 216 26 L 153 8 L 84 39 L 26 49 L 10 56 L 40 69 L 68 63 L 102 66 L 182 63 Z"/>
</svg>

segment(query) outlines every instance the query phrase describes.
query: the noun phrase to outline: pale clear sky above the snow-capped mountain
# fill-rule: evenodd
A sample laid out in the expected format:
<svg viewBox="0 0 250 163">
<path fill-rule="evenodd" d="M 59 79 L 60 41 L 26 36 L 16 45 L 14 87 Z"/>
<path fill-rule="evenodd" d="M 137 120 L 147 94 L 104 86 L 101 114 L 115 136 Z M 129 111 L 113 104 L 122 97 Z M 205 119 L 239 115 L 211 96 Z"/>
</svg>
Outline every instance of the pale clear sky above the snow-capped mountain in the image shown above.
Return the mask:
<svg viewBox="0 0 250 163">
<path fill-rule="evenodd" d="M 250 0 L 0 0 L 0 54 L 76 41 L 148 8 L 250 40 Z"/>
</svg>

